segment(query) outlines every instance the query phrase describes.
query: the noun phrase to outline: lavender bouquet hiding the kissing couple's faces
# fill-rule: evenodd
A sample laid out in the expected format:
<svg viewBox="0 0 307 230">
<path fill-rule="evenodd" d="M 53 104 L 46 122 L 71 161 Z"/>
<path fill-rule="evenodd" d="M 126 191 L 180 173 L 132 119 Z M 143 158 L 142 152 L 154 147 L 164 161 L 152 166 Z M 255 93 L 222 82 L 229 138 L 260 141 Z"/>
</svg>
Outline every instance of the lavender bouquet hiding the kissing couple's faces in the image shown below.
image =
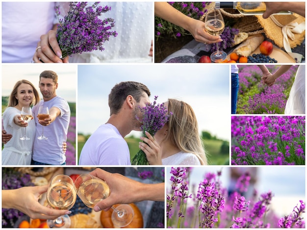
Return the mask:
<svg viewBox="0 0 307 230">
<path fill-rule="evenodd" d="M 171 113 L 167 114 L 167 108 L 164 106 L 164 103 L 156 104 L 157 98 L 158 96 L 154 96 L 154 101 L 152 104 L 147 104 L 145 107 L 141 108 L 141 112 L 143 113 L 142 121 L 139 117 L 136 117 L 137 120 L 143 123 L 141 128 L 144 137 L 147 137 L 145 135 L 145 131 L 154 136 L 155 133 L 164 126 L 171 115 Z M 148 165 L 148 160 L 143 150 L 140 149 L 137 152 L 137 154 L 133 157 L 131 164 Z"/>
</svg>

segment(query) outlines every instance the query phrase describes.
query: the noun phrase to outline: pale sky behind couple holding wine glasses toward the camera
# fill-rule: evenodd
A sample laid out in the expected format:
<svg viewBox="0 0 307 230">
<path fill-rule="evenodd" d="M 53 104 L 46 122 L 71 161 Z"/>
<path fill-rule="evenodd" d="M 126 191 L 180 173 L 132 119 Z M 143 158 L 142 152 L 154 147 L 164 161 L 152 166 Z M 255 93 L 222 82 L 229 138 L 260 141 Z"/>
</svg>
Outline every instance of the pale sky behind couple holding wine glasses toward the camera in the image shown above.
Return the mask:
<svg viewBox="0 0 307 230">
<path fill-rule="evenodd" d="M 15 83 L 26 79 L 39 91 L 39 74 L 44 70 L 52 70 L 58 75 L 56 93 L 68 102 L 76 102 L 77 65 L 61 64 L 2 64 L 2 96 L 9 96 Z M 40 94 L 41 96 L 41 94 Z M 42 97 L 42 96 L 41 96 Z"/>
</svg>

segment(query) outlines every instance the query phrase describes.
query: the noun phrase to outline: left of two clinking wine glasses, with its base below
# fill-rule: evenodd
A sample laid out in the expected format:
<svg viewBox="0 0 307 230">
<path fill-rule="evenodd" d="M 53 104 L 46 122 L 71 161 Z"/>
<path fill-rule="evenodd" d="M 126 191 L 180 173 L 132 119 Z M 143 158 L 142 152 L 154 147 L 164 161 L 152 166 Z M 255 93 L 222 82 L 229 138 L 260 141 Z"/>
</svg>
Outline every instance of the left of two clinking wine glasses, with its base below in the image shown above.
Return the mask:
<svg viewBox="0 0 307 230">
<path fill-rule="evenodd" d="M 54 209 L 70 209 L 74 206 L 77 193 L 73 180 L 67 175 L 55 176 L 47 190 L 47 202 Z M 49 228 L 69 228 L 71 220 L 68 215 L 59 216 L 55 220 L 47 220 Z"/>
</svg>

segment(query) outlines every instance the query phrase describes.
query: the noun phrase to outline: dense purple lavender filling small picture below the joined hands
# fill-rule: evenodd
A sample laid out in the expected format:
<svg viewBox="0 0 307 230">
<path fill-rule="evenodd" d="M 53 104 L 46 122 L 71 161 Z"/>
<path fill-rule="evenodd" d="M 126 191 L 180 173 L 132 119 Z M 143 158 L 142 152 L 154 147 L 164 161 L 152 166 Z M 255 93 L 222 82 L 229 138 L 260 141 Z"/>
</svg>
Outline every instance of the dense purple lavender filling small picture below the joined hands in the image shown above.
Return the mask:
<svg viewBox="0 0 307 230">
<path fill-rule="evenodd" d="M 305 165 L 305 116 L 232 116 L 232 165 Z"/>
</svg>

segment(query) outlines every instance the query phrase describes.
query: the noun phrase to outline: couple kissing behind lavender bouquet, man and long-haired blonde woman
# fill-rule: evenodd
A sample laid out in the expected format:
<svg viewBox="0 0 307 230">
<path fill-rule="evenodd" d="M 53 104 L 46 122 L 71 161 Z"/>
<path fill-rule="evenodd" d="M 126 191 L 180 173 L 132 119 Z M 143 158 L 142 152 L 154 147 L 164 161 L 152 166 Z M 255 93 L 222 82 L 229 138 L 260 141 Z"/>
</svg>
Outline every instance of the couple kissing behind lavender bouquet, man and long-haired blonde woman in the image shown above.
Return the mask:
<svg viewBox="0 0 307 230">
<path fill-rule="evenodd" d="M 132 130 L 141 131 L 141 108 L 150 103 L 151 92 L 142 83 L 116 84 L 108 98 L 110 117 L 85 142 L 79 165 L 130 165 L 130 153 L 124 139 Z M 164 105 L 168 122 L 154 137 L 141 138 L 140 149 L 152 165 L 205 165 L 203 142 L 193 109 L 185 102 L 169 99 Z"/>
</svg>

